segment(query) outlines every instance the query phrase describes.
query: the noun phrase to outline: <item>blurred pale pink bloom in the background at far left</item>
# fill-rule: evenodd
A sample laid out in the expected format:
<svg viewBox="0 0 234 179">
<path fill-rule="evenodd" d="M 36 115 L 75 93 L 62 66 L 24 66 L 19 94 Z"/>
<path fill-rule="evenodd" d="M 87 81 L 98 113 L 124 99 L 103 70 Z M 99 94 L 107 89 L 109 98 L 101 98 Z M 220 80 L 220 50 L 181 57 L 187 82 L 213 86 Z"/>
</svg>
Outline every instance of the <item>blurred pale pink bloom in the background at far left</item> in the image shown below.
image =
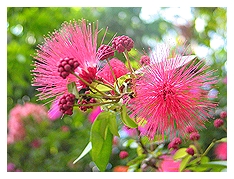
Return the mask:
<svg viewBox="0 0 234 179">
<path fill-rule="evenodd" d="M 45 106 L 26 103 L 16 105 L 9 113 L 7 143 L 11 144 L 18 140 L 23 140 L 25 131 L 25 121 L 32 117 L 36 122 L 41 122 L 47 118 Z"/>
</svg>

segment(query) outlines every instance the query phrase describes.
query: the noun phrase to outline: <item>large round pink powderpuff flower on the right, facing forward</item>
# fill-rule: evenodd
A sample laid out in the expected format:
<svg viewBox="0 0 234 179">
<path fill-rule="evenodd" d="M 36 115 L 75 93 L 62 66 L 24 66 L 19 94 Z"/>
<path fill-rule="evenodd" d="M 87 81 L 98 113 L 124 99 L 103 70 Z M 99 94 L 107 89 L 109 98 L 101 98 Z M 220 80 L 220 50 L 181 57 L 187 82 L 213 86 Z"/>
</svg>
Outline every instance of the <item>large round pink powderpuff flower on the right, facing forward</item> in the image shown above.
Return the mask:
<svg viewBox="0 0 234 179">
<path fill-rule="evenodd" d="M 190 61 L 184 53 L 168 59 L 170 49 L 162 49 L 151 57 L 154 63 L 141 69 L 136 97 L 127 103 L 130 116 L 144 127 L 141 135 L 153 139 L 155 134 L 170 134 L 174 138 L 185 135 L 186 126 L 204 127 L 204 121 L 211 117 L 209 111 L 217 104 L 208 100 L 201 87 L 216 82 L 213 71 L 206 73 L 208 66 L 203 61 Z"/>
</svg>

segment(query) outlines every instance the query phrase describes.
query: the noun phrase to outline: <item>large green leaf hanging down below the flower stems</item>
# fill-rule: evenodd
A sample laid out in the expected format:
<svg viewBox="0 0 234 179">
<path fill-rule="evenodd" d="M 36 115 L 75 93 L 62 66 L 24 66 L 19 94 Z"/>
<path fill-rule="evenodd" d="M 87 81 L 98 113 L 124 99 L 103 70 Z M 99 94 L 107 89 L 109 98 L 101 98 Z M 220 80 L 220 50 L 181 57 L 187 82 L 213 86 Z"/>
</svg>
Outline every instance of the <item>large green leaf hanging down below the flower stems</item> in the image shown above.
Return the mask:
<svg viewBox="0 0 234 179">
<path fill-rule="evenodd" d="M 108 117 L 110 112 L 102 112 L 91 128 L 91 156 L 100 171 L 105 171 L 112 151 L 113 135 L 109 130 Z"/>
</svg>

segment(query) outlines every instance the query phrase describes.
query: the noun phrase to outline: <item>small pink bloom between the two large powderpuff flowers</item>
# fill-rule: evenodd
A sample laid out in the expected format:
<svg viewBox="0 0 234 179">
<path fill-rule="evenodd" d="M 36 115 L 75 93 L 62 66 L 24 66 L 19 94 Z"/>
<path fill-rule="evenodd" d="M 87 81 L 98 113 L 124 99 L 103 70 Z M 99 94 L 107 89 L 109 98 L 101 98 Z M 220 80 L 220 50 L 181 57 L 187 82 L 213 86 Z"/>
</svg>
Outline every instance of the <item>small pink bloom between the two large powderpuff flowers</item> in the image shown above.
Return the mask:
<svg viewBox="0 0 234 179">
<path fill-rule="evenodd" d="M 129 72 L 125 64 L 121 62 L 120 60 L 118 60 L 117 58 L 112 58 L 110 60 L 110 66 L 112 67 L 116 78 L 119 78 Z M 110 66 L 106 64 L 103 67 L 103 69 L 101 69 L 97 73 L 97 76 L 103 78 L 104 80 L 106 80 L 107 82 L 111 84 L 114 84 L 115 80 L 110 70 Z"/>
</svg>

